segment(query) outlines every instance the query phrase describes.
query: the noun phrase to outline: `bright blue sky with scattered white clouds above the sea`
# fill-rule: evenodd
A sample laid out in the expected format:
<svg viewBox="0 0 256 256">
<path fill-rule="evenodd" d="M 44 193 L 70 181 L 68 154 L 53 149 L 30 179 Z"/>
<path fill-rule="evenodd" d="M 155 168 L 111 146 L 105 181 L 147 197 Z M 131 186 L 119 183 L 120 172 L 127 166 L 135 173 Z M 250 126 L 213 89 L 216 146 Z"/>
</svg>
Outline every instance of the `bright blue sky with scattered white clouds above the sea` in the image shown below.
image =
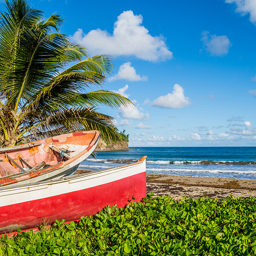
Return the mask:
<svg viewBox="0 0 256 256">
<path fill-rule="evenodd" d="M 64 16 L 90 55 L 113 56 L 104 89 L 135 106 L 99 111 L 129 146 L 256 146 L 256 0 L 29 3 Z"/>
</svg>

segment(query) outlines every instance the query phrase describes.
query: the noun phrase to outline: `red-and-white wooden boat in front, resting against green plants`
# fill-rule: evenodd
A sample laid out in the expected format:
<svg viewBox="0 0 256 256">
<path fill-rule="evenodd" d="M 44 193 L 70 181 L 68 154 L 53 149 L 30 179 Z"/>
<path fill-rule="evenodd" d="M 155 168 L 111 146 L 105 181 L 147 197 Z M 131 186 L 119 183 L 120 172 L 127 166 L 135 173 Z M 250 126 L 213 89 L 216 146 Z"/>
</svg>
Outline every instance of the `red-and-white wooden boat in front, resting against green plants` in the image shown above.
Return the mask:
<svg viewBox="0 0 256 256">
<path fill-rule="evenodd" d="M 145 158 L 84 175 L 0 188 L 0 233 L 27 230 L 55 219 L 74 221 L 103 207 L 124 207 L 146 195 Z"/>
</svg>

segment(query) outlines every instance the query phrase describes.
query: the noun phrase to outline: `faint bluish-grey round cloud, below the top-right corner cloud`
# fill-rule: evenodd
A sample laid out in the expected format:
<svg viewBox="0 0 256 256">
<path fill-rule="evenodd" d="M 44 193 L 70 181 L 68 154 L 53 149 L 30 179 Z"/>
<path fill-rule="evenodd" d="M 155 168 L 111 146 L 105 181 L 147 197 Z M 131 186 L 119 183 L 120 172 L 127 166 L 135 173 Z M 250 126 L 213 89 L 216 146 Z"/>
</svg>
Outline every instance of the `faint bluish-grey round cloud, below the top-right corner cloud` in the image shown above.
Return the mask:
<svg viewBox="0 0 256 256">
<path fill-rule="evenodd" d="M 231 42 L 226 35 L 208 35 L 208 31 L 202 33 L 201 41 L 204 43 L 204 48 L 215 56 L 226 55 L 229 52 Z M 210 37 L 210 38 L 209 38 Z"/>
</svg>

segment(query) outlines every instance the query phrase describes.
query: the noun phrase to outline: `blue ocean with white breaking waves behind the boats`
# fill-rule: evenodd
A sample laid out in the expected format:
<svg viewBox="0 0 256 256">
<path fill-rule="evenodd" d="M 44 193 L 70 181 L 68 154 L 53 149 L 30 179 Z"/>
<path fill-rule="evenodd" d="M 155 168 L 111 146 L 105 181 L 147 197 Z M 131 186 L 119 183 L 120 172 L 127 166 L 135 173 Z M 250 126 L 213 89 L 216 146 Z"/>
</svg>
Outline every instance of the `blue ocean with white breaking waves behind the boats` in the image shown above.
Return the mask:
<svg viewBox="0 0 256 256">
<path fill-rule="evenodd" d="M 256 147 L 131 147 L 98 151 L 79 168 L 99 170 L 137 162 L 147 156 L 148 174 L 256 180 Z"/>
</svg>

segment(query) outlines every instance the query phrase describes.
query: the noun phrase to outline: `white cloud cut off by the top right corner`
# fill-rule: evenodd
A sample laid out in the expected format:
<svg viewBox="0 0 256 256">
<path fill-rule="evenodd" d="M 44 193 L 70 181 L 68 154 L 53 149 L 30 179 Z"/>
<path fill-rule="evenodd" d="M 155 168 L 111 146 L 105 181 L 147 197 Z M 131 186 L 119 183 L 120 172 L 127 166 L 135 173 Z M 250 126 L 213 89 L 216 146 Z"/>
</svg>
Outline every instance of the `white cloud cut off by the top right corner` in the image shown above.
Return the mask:
<svg viewBox="0 0 256 256">
<path fill-rule="evenodd" d="M 226 3 L 235 3 L 242 16 L 250 14 L 250 21 L 256 25 L 256 1 L 255 0 L 225 0 Z"/>
</svg>

